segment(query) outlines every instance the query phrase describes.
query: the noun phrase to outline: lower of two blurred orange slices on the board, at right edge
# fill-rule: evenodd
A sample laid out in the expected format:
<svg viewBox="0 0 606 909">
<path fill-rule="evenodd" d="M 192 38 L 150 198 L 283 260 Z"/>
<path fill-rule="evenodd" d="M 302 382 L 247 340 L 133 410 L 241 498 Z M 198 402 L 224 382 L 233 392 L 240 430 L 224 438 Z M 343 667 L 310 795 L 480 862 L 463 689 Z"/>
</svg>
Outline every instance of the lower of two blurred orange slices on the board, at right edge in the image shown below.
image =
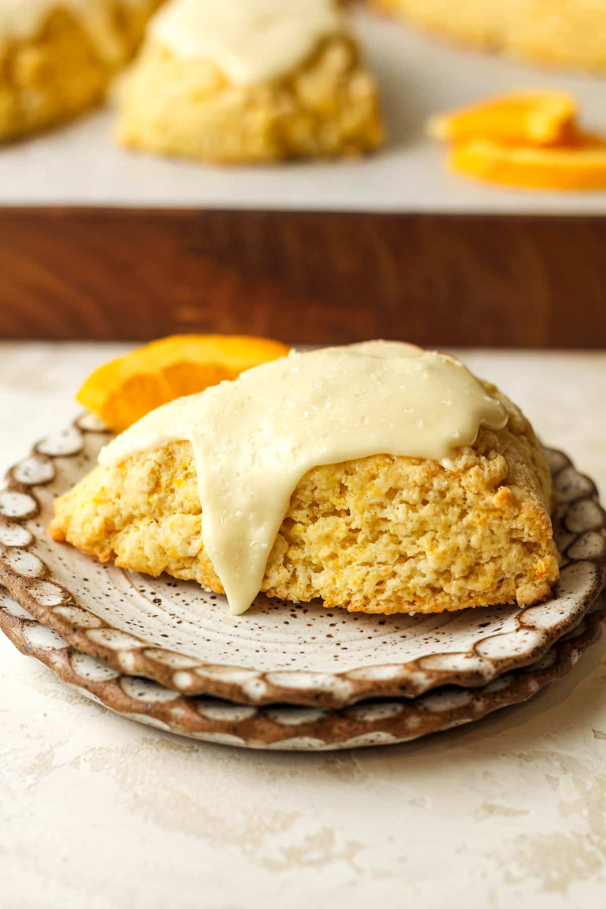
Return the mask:
<svg viewBox="0 0 606 909">
<path fill-rule="evenodd" d="M 606 189 L 606 146 L 531 148 L 477 140 L 453 145 L 453 173 L 487 183 L 528 189 Z"/>
</svg>

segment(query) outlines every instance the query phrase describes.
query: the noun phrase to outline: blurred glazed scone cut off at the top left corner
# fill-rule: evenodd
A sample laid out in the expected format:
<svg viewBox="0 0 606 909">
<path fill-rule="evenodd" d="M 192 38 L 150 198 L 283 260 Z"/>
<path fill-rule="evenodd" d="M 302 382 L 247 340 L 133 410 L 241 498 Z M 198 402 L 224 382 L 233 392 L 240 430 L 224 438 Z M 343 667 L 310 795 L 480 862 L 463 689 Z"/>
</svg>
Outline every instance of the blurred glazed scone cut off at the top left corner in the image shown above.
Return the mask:
<svg viewBox="0 0 606 909">
<path fill-rule="evenodd" d="M 103 98 L 160 0 L 0 0 L 0 141 Z"/>
</svg>

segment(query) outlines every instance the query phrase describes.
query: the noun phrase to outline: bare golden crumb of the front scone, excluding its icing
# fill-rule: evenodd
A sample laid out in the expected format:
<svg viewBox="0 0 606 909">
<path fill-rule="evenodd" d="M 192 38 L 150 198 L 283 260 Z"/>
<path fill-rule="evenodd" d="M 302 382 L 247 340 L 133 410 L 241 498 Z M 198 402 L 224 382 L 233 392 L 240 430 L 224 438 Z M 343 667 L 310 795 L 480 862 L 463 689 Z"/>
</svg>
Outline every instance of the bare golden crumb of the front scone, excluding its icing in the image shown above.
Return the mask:
<svg viewBox="0 0 606 909">
<path fill-rule="evenodd" d="M 435 613 L 544 600 L 558 577 L 551 477 L 528 420 L 481 428 L 446 469 L 376 454 L 315 467 L 291 498 L 263 591 L 352 612 Z M 223 593 L 200 540 L 189 443 L 91 474 L 55 501 L 50 533 L 102 562 Z"/>
</svg>

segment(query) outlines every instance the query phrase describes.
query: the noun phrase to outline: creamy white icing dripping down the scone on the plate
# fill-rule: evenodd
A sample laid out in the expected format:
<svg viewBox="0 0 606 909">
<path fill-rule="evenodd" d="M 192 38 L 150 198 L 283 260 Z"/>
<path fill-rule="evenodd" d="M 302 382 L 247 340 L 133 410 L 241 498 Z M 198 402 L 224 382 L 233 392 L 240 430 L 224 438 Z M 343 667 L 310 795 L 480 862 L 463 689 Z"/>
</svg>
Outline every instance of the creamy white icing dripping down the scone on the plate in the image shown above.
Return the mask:
<svg viewBox="0 0 606 909">
<path fill-rule="evenodd" d="M 372 454 L 434 461 L 507 412 L 458 361 L 375 341 L 294 353 L 158 407 L 99 455 L 105 466 L 168 442 L 194 448 L 202 538 L 233 614 L 261 589 L 295 486 Z"/>
</svg>

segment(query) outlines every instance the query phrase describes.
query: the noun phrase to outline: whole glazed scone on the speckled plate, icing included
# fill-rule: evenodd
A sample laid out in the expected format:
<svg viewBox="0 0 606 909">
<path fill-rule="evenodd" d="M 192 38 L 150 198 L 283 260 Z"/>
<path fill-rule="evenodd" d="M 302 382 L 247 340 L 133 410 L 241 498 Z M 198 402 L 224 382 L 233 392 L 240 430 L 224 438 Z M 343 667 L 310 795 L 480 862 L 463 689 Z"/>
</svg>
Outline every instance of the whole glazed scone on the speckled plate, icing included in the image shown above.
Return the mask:
<svg viewBox="0 0 606 909">
<path fill-rule="evenodd" d="M 544 600 L 551 479 L 531 425 L 451 357 L 291 354 L 144 416 L 50 533 L 245 612 L 259 590 L 369 613 Z"/>
</svg>

